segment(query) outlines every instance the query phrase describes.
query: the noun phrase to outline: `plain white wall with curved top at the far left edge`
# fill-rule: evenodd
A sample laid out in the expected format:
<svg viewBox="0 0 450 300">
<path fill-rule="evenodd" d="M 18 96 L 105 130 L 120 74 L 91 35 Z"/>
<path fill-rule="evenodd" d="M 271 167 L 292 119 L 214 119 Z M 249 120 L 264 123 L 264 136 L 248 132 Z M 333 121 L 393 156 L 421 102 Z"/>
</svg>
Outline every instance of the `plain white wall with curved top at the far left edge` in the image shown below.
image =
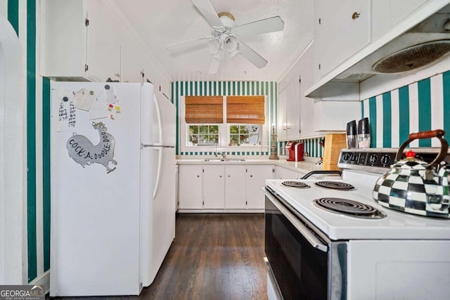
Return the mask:
<svg viewBox="0 0 450 300">
<path fill-rule="evenodd" d="M 4 9 L 2 4 L 1 8 Z M 0 14 L 0 285 L 26 280 L 22 51 Z"/>
</svg>

